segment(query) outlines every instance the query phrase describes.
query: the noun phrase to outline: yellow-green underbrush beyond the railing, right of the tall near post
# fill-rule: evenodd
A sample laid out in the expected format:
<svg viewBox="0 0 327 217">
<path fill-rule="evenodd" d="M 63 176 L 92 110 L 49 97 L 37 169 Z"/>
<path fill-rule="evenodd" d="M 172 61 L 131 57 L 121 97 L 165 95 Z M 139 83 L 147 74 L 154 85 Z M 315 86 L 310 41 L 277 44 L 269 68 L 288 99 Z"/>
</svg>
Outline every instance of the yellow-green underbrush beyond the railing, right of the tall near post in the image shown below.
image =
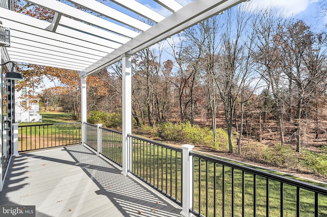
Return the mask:
<svg viewBox="0 0 327 217">
<path fill-rule="evenodd" d="M 213 148 L 217 151 L 228 151 L 228 136 L 224 129 L 217 129 L 217 141 L 214 143 L 213 132 L 208 127 L 192 126 L 186 123 L 164 123 L 157 127 L 144 126 L 143 133 L 165 141 L 188 143 Z M 235 144 L 235 142 L 233 142 Z M 235 147 L 234 150 L 237 150 Z M 302 149 L 297 153 L 292 147 L 276 144 L 268 146 L 251 142 L 243 146 L 242 157 L 267 166 L 286 168 L 288 170 L 327 177 L 327 146 L 321 153 Z"/>
</svg>

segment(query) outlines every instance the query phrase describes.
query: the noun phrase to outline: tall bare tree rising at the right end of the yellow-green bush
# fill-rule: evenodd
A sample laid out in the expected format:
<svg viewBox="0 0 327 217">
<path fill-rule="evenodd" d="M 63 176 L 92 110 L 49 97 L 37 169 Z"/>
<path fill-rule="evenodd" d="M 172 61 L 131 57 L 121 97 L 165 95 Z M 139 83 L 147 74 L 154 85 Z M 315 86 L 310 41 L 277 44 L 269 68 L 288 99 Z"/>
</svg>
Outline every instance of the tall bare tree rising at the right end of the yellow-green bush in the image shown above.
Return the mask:
<svg viewBox="0 0 327 217">
<path fill-rule="evenodd" d="M 248 25 L 250 15 L 245 11 L 238 7 L 235 11 L 228 10 L 226 13 L 226 22 L 221 35 L 219 67 L 216 74 L 216 85 L 224 104 L 230 153 L 233 152 L 233 111 L 242 87 L 247 85 L 252 72 L 250 53 L 254 38 L 251 28 L 250 31 L 248 29 L 250 27 Z"/>
</svg>

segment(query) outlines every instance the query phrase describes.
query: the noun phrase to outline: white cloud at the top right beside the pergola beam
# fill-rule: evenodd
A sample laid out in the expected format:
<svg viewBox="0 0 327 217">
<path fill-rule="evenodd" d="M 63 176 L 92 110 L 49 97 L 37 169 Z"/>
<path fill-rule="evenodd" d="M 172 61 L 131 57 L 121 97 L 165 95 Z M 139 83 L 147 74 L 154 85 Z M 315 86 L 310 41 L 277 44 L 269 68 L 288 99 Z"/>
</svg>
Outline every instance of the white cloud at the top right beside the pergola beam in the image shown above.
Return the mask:
<svg viewBox="0 0 327 217">
<path fill-rule="evenodd" d="M 249 4 L 253 10 L 272 8 L 288 17 L 305 11 L 314 2 L 318 0 L 251 0 Z"/>
</svg>

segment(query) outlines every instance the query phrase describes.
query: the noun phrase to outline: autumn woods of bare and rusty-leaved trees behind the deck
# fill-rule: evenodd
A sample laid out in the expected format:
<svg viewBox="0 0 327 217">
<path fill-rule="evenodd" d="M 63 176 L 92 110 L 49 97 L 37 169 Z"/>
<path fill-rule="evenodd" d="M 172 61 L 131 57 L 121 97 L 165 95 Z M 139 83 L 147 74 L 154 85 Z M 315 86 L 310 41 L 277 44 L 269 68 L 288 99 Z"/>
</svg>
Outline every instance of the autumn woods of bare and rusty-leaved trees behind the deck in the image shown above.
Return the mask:
<svg viewBox="0 0 327 217">
<path fill-rule="evenodd" d="M 229 9 L 133 56 L 135 125 L 210 120 L 215 140 L 216 117 L 223 115 L 229 152 L 238 153 L 242 137 L 262 141 L 267 131 L 278 132 L 276 143 L 282 145 L 293 144 L 286 135 L 296 138 L 297 152 L 308 142 L 308 133 L 325 138 L 326 28 L 247 7 Z M 51 12 L 43 19 L 51 20 Z M 87 77 L 89 112 L 121 113 L 121 67 L 116 63 Z M 25 80 L 18 88 L 30 87 L 30 96 L 73 111 L 78 119 L 76 71 L 35 65 L 21 69 L 26 69 Z M 37 94 L 45 77 L 62 85 Z M 238 150 L 233 150 L 236 135 Z"/>
</svg>

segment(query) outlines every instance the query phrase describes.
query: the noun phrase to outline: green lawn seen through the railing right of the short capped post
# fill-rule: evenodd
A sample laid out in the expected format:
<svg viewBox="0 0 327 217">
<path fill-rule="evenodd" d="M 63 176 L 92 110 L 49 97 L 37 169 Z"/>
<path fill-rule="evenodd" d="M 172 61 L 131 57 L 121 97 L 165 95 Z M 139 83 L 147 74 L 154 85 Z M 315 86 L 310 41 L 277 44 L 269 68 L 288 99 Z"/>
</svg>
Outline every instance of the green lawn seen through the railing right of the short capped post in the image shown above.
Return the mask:
<svg viewBox="0 0 327 217">
<path fill-rule="evenodd" d="M 205 160 L 199 162 L 197 157 L 194 162 L 194 209 L 200 210 L 203 215 L 207 213 L 207 216 L 214 216 L 214 212 L 216 212 L 216 216 L 222 216 L 223 212 L 225 216 L 231 216 L 233 205 L 233 215 L 242 216 L 242 171 L 232 170 L 227 166 L 223 171 L 222 165 L 216 164 L 215 166 L 210 161 L 207 164 Z M 199 165 L 201 166 L 199 167 Z M 214 188 L 215 174 L 216 189 Z M 254 214 L 254 181 L 256 184 L 255 216 L 266 216 L 267 180 L 261 176 L 256 176 L 254 179 L 253 174 L 250 173 L 244 174 L 244 215 L 253 216 Z M 205 191 L 206 187 L 208 188 L 207 192 Z M 283 187 L 283 214 L 284 216 L 296 216 L 296 187 L 288 184 L 284 184 Z M 314 199 L 314 193 L 300 189 L 300 216 L 314 215 Z M 327 216 L 327 197 L 319 195 L 318 202 L 319 216 Z M 273 180 L 269 180 L 269 216 L 281 216 L 281 183 Z"/>
</svg>

